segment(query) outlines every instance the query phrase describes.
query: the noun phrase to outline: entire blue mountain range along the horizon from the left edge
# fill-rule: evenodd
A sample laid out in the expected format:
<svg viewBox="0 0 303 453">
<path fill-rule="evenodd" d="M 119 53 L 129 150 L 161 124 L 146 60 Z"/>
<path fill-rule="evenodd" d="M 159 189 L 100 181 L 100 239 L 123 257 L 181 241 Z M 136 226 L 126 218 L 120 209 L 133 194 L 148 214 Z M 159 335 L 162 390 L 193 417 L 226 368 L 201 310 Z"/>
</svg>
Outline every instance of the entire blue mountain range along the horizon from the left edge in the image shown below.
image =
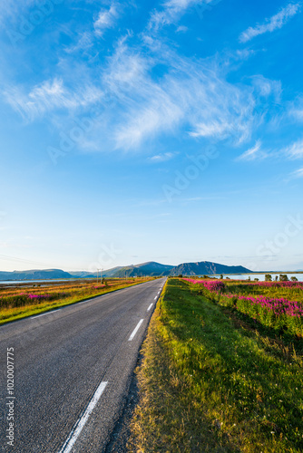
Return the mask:
<svg viewBox="0 0 303 453">
<path fill-rule="evenodd" d="M 214 275 L 214 274 L 250 274 L 246 267 L 242 265 L 219 265 L 209 261 L 200 263 L 183 263 L 181 265 L 161 265 L 154 261 L 142 263 L 141 265 L 127 265 L 112 267 L 103 270 L 103 277 L 122 278 L 136 277 L 143 275 L 167 276 L 167 275 Z M 98 276 L 100 277 L 100 271 Z M 96 278 L 96 272 L 64 272 L 61 269 L 44 269 L 30 271 L 0 272 L 0 280 L 48 280 L 58 278 Z"/>
</svg>

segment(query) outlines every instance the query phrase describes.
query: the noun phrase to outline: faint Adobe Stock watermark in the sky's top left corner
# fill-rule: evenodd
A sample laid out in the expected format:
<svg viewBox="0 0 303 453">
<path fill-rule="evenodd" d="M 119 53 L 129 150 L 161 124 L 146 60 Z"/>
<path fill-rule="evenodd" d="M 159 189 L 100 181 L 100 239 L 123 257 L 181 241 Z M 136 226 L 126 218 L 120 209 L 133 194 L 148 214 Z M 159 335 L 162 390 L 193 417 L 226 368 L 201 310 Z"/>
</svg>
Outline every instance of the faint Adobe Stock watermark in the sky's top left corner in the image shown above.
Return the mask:
<svg viewBox="0 0 303 453">
<path fill-rule="evenodd" d="M 24 15 L 20 16 L 20 22 L 16 29 L 6 30 L 11 43 L 16 45 L 24 41 L 27 36 L 34 32 L 38 25 L 44 23 L 46 17 L 54 13 L 55 6 L 62 3 L 64 3 L 64 0 L 36 0 L 36 8 L 27 17 Z"/>
</svg>

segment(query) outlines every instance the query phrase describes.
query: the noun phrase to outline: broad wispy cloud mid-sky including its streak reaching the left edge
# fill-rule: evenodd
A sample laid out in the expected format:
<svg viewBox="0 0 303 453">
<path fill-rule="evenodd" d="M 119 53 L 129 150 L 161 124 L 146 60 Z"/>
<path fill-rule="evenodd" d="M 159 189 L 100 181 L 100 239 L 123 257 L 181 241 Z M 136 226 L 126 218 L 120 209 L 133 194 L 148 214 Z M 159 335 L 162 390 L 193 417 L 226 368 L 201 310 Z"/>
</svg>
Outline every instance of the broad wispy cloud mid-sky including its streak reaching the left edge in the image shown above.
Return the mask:
<svg viewBox="0 0 303 453">
<path fill-rule="evenodd" d="M 227 66 L 216 59 L 196 60 L 178 55 L 150 37 L 150 51 L 132 46 L 129 35 L 117 43 L 97 79 L 77 72 L 68 86 L 56 77 L 27 91 L 5 89 L 6 101 L 24 119 L 67 110 L 73 117 L 81 108 L 100 109 L 96 127 L 82 146 L 91 151 L 139 149 L 162 134 L 194 139 L 248 140 L 254 125 L 255 100 L 249 86 L 226 81 Z M 165 67 L 161 77 L 154 68 Z M 73 80 L 74 78 L 74 80 Z"/>
</svg>

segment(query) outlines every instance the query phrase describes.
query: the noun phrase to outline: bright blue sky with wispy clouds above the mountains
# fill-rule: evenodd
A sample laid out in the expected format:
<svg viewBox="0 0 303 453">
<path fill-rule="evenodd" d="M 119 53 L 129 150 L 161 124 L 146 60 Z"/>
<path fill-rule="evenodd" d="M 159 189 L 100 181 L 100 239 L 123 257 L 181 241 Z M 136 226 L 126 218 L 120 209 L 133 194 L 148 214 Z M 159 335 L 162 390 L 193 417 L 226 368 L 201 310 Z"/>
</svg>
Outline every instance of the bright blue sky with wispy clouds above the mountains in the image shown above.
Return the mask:
<svg viewBox="0 0 303 453">
<path fill-rule="evenodd" d="M 5 2 L 1 270 L 303 269 L 302 13 Z"/>
</svg>

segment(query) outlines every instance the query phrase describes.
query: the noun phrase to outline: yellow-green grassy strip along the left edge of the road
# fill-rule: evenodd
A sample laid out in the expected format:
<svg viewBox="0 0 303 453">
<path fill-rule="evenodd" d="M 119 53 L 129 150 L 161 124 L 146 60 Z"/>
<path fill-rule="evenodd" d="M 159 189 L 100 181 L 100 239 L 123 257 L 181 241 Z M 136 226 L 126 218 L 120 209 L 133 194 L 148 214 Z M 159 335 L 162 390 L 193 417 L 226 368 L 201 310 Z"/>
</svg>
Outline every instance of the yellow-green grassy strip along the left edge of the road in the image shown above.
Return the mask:
<svg viewBox="0 0 303 453">
<path fill-rule="evenodd" d="M 152 278 L 150 279 L 152 280 Z M 34 314 L 41 314 L 52 311 L 56 308 L 64 307 L 65 305 L 76 304 L 78 302 L 83 302 L 84 300 L 93 299 L 99 295 L 109 294 L 113 291 L 118 291 L 123 288 L 128 288 L 136 284 L 142 284 L 146 282 L 138 281 L 128 284 L 115 284 L 113 286 L 103 287 L 101 289 L 93 291 L 91 294 L 83 295 L 83 288 L 80 288 L 79 294 L 73 294 L 70 297 L 63 299 L 55 300 L 54 302 L 42 302 L 41 304 L 27 304 L 21 307 L 12 307 L 12 308 L 1 308 L 0 310 L 0 325 L 5 323 L 10 323 L 12 321 L 17 321 L 19 319 L 26 318 L 28 316 L 34 316 Z"/>
</svg>

